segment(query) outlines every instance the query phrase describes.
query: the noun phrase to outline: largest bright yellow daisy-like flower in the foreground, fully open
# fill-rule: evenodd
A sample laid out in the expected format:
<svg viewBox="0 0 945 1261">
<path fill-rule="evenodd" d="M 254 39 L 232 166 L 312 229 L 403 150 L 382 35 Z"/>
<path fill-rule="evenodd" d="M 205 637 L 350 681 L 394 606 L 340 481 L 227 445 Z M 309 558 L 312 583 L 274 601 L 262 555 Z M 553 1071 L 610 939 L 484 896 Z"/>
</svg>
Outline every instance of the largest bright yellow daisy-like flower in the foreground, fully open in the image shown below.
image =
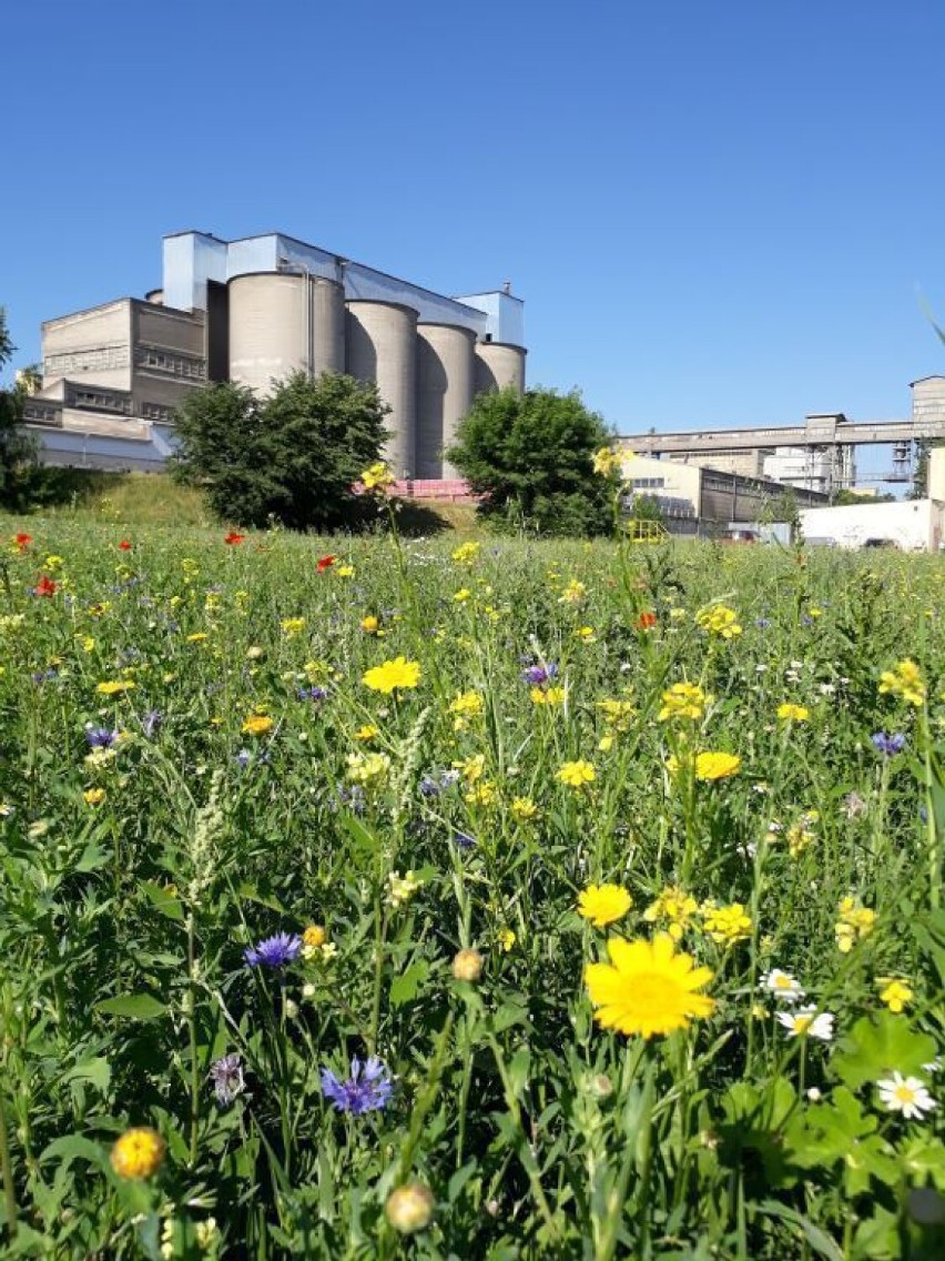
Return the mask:
<svg viewBox="0 0 945 1261">
<path fill-rule="evenodd" d="M 677 955 L 668 933 L 658 933 L 651 942 L 611 937 L 607 953 L 610 963 L 585 968 L 585 984 L 602 1028 L 651 1038 L 712 1015 L 714 1001 L 696 994 L 712 980 L 712 971 L 696 967 L 690 955 Z"/>
</svg>

